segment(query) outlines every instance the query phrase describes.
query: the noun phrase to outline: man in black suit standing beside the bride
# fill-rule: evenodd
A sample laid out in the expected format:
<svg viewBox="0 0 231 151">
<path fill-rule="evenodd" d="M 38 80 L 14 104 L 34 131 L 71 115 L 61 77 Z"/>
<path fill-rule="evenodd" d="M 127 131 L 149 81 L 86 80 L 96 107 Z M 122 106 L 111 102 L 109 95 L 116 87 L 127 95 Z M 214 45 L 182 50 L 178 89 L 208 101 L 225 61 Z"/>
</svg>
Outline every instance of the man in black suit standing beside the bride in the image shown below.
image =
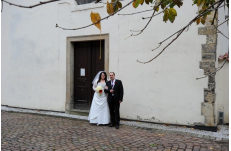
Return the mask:
<svg viewBox="0 0 231 151">
<path fill-rule="evenodd" d="M 108 104 L 110 108 L 110 115 L 111 115 L 111 124 L 109 127 L 115 126 L 116 129 L 119 129 L 119 122 L 120 122 L 120 103 L 123 101 L 123 84 L 122 81 L 115 79 L 115 73 L 110 72 L 110 79 L 106 83 L 108 89 L 104 89 L 104 92 L 108 93 Z"/>
</svg>

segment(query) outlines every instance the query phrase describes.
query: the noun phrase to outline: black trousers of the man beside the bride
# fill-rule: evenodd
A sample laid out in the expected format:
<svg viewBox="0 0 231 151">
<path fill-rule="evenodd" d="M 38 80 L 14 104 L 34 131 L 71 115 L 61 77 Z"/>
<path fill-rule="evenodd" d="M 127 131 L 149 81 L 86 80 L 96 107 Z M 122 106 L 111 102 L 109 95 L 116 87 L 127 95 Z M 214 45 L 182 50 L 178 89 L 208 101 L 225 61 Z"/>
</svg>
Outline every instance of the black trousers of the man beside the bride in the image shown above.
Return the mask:
<svg viewBox="0 0 231 151">
<path fill-rule="evenodd" d="M 110 115 L 111 115 L 111 123 L 118 124 L 120 122 L 120 103 L 116 101 L 114 96 L 111 98 L 111 102 L 109 103 Z"/>
</svg>

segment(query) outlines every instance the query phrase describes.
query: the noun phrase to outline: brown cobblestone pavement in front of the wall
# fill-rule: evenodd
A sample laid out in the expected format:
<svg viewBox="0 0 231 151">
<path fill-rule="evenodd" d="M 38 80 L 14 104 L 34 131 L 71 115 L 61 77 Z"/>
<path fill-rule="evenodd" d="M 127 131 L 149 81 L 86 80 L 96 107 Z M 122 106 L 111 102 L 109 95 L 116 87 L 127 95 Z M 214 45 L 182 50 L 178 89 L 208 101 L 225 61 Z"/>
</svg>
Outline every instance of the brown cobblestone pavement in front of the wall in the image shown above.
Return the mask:
<svg viewBox="0 0 231 151">
<path fill-rule="evenodd" d="M 227 140 L 209 140 L 121 125 L 120 129 L 87 121 L 1 112 L 1 149 L 6 150 L 228 150 Z"/>
</svg>

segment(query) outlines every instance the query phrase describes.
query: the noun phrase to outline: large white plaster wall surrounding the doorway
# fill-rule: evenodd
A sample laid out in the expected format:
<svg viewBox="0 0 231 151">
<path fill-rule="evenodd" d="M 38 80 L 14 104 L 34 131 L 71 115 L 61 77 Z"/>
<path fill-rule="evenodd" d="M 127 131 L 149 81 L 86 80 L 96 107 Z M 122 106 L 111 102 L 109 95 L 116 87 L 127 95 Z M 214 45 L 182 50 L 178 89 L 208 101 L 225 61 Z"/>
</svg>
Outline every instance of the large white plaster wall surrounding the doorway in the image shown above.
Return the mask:
<svg viewBox="0 0 231 151">
<path fill-rule="evenodd" d="M 25 4 L 26 0 L 12 0 Z M 37 0 L 30 1 L 36 3 Z M 123 1 L 123 5 L 128 3 Z M 83 7 L 83 6 L 81 6 Z M 7 4 L 2 13 L 2 105 L 64 111 L 66 99 L 66 37 L 99 34 L 91 26 L 83 30 L 64 31 L 55 24 L 73 28 L 91 23 L 90 12 L 107 16 L 106 6 L 92 4 L 81 10 L 73 0 L 56 2 L 33 9 L 22 9 Z M 88 9 L 88 7 L 90 9 Z M 128 6 L 120 13 L 150 9 Z M 109 70 L 116 73 L 124 85 L 121 117 L 174 124 L 204 123 L 201 103 L 207 79 L 199 69 L 201 44 L 205 36 L 198 35 L 198 27 L 174 42 L 161 56 L 147 61 L 160 52 L 151 51 L 158 42 L 186 25 L 197 11 L 191 1 L 184 1 L 174 24 L 164 23 L 163 15 L 153 19 L 148 28 L 137 37 L 130 30 L 139 30 L 147 23 L 141 17 L 118 16 L 104 20 L 102 34 L 109 33 Z M 187 14 L 187 15 L 186 15 Z M 165 43 L 167 44 L 167 43 Z"/>
</svg>

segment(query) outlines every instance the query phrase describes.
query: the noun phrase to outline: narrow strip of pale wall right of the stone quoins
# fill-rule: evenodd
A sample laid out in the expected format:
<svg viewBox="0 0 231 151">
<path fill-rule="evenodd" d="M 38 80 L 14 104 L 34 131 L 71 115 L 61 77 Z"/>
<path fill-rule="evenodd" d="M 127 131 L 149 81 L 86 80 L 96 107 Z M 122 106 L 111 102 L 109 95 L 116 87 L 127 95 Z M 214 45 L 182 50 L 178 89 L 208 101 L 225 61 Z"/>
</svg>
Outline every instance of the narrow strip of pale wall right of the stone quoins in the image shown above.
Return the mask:
<svg viewBox="0 0 231 151">
<path fill-rule="evenodd" d="M 222 7 L 218 11 L 218 25 L 224 22 L 225 15 L 229 15 L 228 8 Z M 218 28 L 225 36 L 229 37 L 229 24 L 225 23 Z M 220 67 L 224 61 L 218 61 L 219 55 L 224 55 L 228 52 L 229 40 L 223 35 L 218 34 L 217 38 L 217 62 L 216 66 Z M 218 122 L 218 112 L 224 112 L 224 122 L 229 123 L 229 62 L 216 74 L 216 100 L 215 100 L 215 115 Z"/>
</svg>

